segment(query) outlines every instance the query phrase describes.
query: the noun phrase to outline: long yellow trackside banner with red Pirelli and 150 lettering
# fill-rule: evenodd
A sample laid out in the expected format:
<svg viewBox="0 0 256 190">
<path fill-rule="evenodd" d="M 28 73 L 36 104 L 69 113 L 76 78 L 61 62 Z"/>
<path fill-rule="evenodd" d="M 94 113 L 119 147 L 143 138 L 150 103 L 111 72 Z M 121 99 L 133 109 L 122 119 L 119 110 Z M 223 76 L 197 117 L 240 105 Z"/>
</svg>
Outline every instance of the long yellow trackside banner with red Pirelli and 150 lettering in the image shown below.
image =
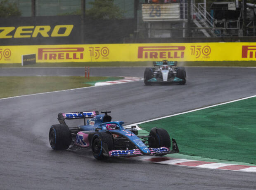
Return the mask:
<svg viewBox="0 0 256 190">
<path fill-rule="evenodd" d="M 161 43 L 0 46 L 0 63 L 21 63 L 36 54 L 37 63 L 108 61 L 256 60 L 256 43 Z"/>
</svg>

